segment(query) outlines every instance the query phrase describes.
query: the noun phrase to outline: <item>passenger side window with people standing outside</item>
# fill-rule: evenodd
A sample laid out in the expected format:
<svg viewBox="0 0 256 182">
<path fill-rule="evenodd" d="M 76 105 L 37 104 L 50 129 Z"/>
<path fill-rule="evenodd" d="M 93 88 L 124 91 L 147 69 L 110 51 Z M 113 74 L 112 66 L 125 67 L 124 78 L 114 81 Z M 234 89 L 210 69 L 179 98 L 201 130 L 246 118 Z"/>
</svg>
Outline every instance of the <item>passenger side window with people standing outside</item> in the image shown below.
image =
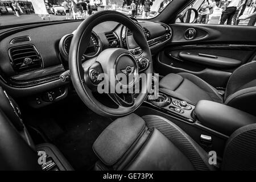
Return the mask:
<svg viewBox="0 0 256 182">
<path fill-rule="evenodd" d="M 255 26 L 256 0 L 194 0 L 176 22 Z"/>
</svg>

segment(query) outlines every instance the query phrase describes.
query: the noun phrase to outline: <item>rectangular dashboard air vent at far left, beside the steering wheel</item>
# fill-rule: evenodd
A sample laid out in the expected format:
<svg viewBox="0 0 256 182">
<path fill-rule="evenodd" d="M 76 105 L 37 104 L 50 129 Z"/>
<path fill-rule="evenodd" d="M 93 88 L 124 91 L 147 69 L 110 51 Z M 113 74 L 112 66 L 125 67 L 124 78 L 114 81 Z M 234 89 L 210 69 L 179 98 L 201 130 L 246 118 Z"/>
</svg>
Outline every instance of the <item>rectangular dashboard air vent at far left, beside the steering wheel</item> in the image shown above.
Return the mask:
<svg viewBox="0 0 256 182">
<path fill-rule="evenodd" d="M 9 49 L 11 65 L 18 73 L 42 68 L 42 59 L 33 45 L 12 47 Z"/>
</svg>

